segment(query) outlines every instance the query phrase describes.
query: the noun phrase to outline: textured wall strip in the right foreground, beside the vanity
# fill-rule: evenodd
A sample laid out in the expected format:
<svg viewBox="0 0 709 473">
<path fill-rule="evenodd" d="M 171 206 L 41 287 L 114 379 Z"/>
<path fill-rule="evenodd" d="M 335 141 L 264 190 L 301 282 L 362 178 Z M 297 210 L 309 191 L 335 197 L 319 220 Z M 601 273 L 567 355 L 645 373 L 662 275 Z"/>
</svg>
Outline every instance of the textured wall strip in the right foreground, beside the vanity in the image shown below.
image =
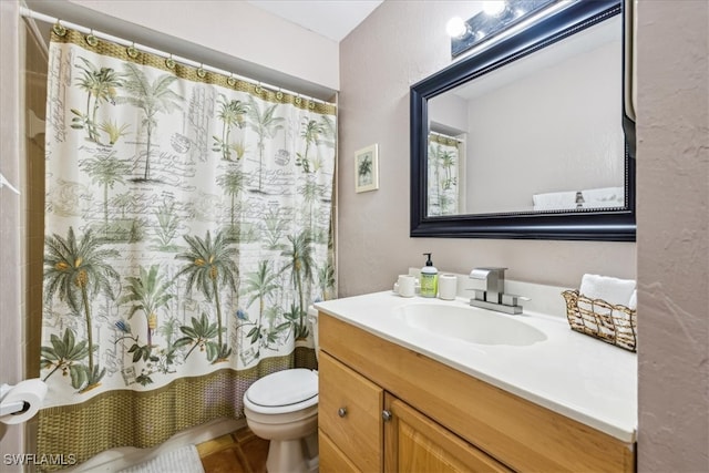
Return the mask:
<svg viewBox="0 0 709 473">
<path fill-rule="evenodd" d="M 639 471 L 709 471 L 709 3 L 638 4 Z"/>
</svg>

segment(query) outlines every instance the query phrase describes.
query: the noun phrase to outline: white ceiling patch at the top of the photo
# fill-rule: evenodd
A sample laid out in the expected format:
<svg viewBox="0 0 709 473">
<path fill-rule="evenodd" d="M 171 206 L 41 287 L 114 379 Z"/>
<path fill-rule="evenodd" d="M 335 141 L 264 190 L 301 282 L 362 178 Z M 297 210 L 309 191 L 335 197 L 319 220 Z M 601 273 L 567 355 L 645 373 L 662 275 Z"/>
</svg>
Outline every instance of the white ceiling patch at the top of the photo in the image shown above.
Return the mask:
<svg viewBox="0 0 709 473">
<path fill-rule="evenodd" d="M 248 0 L 255 7 L 340 42 L 383 0 Z"/>
</svg>

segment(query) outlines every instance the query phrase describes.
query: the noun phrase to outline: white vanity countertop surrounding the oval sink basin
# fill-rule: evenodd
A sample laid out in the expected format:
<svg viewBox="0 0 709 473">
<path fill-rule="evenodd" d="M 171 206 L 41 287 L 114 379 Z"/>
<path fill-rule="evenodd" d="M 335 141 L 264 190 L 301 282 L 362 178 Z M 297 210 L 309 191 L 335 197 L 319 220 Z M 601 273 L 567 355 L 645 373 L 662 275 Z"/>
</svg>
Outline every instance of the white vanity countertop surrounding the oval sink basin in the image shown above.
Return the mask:
<svg viewBox="0 0 709 473">
<path fill-rule="evenodd" d="M 523 347 L 470 343 L 402 323 L 393 312 L 407 304 L 469 307 L 463 298 L 407 299 L 391 290 L 328 300 L 315 307 L 618 440 L 636 441 L 636 353 L 575 332 L 565 318 L 526 310 L 518 316 L 494 313 L 536 327 L 546 340 Z"/>
</svg>

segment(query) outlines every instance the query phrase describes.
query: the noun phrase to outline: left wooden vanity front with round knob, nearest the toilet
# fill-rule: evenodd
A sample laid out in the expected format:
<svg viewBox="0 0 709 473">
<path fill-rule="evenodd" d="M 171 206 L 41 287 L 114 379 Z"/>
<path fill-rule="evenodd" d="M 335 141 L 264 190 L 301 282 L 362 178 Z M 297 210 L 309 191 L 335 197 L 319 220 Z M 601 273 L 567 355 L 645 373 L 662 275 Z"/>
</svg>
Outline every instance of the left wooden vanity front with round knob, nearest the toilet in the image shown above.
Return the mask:
<svg viewBox="0 0 709 473">
<path fill-rule="evenodd" d="M 329 438 L 326 443 L 332 443 L 327 446 L 339 450 L 362 472 L 381 472 L 383 390 L 323 351 L 318 373 L 318 424 L 321 435 Z M 333 455 L 325 460 L 326 466 L 328 461 L 341 464 L 341 459 Z M 323 473 L 326 470 L 321 467 Z"/>
</svg>

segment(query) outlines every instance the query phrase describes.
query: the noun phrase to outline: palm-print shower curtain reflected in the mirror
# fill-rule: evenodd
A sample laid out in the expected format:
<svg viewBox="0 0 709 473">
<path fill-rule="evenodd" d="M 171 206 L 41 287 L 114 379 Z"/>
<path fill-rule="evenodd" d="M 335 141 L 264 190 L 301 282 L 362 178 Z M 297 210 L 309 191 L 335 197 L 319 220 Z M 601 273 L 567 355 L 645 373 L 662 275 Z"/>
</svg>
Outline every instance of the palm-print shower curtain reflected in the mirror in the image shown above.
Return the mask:
<svg viewBox="0 0 709 473">
<path fill-rule="evenodd" d="M 429 133 L 429 216 L 460 214 L 458 177 L 462 141 Z"/>
</svg>

